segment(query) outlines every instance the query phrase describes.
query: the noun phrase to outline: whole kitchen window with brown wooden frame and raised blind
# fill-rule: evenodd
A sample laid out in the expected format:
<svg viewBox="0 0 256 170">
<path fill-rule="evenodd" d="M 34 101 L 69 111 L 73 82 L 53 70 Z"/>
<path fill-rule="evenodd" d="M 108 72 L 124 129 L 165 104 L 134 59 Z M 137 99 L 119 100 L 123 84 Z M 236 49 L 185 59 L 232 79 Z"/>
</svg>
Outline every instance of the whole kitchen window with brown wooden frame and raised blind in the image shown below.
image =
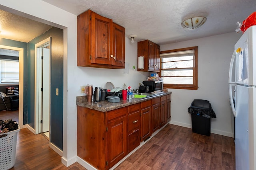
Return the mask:
<svg viewBox="0 0 256 170">
<path fill-rule="evenodd" d="M 198 89 L 198 47 L 161 51 L 160 76 L 164 88 Z"/>
</svg>

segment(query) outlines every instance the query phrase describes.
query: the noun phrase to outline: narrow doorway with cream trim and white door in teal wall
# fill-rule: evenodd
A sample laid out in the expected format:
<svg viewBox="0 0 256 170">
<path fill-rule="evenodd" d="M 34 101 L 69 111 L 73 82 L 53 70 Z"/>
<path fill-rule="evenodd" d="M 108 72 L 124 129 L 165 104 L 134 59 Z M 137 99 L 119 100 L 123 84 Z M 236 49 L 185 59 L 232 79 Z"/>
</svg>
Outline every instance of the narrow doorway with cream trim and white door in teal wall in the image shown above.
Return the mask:
<svg viewBox="0 0 256 170">
<path fill-rule="evenodd" d="M 35 133 L 43 133 L 47 139 L 50 139 L 50 47 L 50 37 L 35 45 Z"/>
</svg>

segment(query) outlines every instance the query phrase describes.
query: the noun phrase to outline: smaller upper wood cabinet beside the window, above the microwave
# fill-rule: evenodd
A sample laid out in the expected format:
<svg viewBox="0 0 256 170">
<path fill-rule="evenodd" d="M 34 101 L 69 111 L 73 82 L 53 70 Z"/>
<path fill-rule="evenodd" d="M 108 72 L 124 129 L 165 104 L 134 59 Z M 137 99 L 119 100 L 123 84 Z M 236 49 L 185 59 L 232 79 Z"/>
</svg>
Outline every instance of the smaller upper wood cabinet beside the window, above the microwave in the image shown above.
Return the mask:
<svg viewBox="0 0 256 170">
<path fill-rule="evenodd" d="M 138 71 L 160 72 L 160 46 L 152 41 L 138 42 L 138 57 L 144 56 L 144 69 Z"/>
</svg>

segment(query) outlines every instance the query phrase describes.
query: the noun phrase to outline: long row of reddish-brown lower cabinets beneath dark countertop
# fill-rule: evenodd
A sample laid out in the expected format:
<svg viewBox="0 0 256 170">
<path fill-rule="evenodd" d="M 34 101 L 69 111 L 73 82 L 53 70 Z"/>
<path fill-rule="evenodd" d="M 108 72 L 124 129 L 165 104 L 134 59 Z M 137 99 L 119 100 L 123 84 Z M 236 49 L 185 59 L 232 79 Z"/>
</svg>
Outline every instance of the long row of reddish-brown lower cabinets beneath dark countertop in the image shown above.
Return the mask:
<svg viewBox="0 0 256 170">
<path fill-rule="evenodd" d="M 170 119 L 170 95 L 112 111 L 77 106 L 77 155 L 108 170 Z"/>
</svg>

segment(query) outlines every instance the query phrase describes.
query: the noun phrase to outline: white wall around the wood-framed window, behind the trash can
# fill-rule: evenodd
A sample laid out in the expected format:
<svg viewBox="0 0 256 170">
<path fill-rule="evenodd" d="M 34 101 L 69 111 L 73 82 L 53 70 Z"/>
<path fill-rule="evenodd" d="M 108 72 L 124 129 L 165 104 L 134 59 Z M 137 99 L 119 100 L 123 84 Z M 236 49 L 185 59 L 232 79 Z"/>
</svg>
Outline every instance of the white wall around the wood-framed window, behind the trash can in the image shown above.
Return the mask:
<svg viewBox="0 0 256 170">
<path fill-rule="evenodd" d="M 188 107 L 194 99 L 209 100 L 216 113 L 211 133 L 233 137 L 234 117 L 228 94 L 228 71 L 234 45 L 242 33 L 226 33 L 161 45 L 161 51 L 198 46 L 198 90 L 171 89 L 171 122 L 192 127 Z"/>
</svg>

